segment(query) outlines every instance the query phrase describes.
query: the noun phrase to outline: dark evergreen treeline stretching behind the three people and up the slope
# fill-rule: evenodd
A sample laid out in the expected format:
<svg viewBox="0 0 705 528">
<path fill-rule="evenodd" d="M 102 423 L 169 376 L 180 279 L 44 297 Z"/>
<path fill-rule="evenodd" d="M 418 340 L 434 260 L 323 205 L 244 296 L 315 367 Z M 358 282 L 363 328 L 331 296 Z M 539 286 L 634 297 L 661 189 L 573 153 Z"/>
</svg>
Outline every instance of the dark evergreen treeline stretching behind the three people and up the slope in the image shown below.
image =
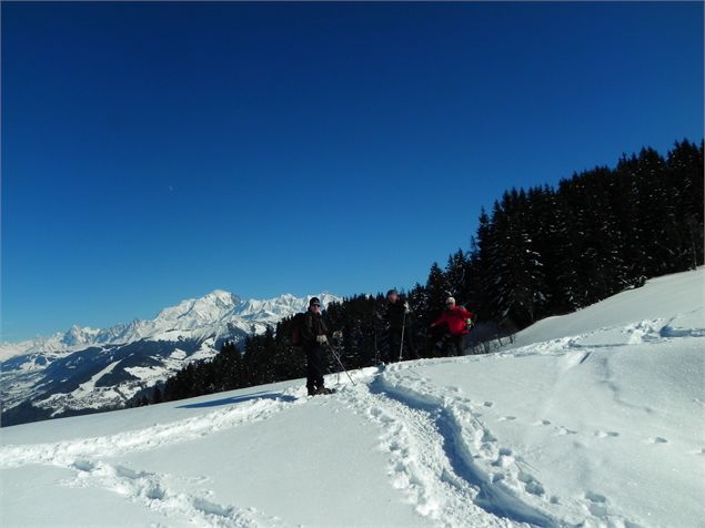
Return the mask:
<svg viewBox="0 0 705 528">
<path fill-rule="evenodd" d="M 490 213 L 481 212 L 470 250 L 459 250 L 444 267 L 434 263 L 425 284 L 407 292 L 419 352 L 443 354 L 443 336 L 427 327 L 449 295 L 477 314 L 477 342 L 702 265 L 703 171 L 703 142 L 683 141 L 665 158 L 644 149 L 557 187 L 505 192 Z M 375 364 L 386 346 L 379 317 L 384 302 L 381 294 L 359 295 L 328 307 L 330 327 L 343 331 L 348 368 Z M 158 387 L 151 400 L 302 377 L 304 357 L 291 349 L 290 328 L 291 319 L 282 321 L 248 337 L 242 351 L 226 343 L 212 361 L 192 363 Z M 148 402 L 145 395 L 135 400 Z"/>
</svg>

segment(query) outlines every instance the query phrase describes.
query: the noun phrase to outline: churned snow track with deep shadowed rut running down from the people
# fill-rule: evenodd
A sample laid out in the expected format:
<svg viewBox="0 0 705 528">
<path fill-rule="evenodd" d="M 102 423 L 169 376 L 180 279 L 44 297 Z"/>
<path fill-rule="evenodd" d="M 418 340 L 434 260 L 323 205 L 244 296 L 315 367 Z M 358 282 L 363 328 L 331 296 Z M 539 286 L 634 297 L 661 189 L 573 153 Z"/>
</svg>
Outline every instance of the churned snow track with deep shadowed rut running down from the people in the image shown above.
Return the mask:
<svg viewBox="0 0 705 528">
<path fill-rule="evenodd" d="M 441 526 L 463 526 L 467 519 L 476 520 L 473 526 L 555 526 L 547 515 L 481 475 L 457 440 L 457 425 L 442 406 L 396 392 L 383 373 L 341 394 L 352 409 L 382 427 L 381 447 L 390 456 L 393 485 L 406 491 L 421 515 Z"/>
</svg>

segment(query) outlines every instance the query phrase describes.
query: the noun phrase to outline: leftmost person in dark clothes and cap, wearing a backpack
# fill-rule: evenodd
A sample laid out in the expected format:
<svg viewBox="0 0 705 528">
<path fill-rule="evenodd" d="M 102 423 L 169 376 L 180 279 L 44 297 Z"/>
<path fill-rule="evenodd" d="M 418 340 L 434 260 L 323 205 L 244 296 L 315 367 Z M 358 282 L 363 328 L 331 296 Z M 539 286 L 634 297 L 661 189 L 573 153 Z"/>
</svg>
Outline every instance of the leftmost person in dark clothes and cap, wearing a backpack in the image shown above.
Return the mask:
<svg viewBox="0 0 705 528">
<path fill-rule="evenodd" d="M 328 361 L 323 347 L 328 344 L 328 327 L 321 315 L 321 301 L 318 297 L 309 302 L 309 311 L 301 327 L 301 344 L 306 354 L 306 388 L 309 396 L 331 394 L 323 386 L 323 376 L 328 370 Z"/>
</svg>

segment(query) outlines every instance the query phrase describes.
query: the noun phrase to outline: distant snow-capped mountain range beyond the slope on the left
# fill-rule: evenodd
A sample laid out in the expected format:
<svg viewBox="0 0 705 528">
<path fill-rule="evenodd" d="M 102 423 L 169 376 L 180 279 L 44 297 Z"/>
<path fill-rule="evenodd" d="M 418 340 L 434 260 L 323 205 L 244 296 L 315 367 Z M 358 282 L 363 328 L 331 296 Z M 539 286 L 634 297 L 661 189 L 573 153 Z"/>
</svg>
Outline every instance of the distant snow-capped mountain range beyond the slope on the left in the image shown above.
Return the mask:
<svg viewBox="0 0 705 528">
<path fill-rule="evenodd" d="M 326 306 L 340 297 L 316 295 Z M 213 357 L 225 341 L 243 341 L 302 312 L 312 295 L 243 301 L 216 290 L 157 317 L 110 328 L 0 345 L 2 426 L 120 407 L 190 362 Z"/>
</svg>

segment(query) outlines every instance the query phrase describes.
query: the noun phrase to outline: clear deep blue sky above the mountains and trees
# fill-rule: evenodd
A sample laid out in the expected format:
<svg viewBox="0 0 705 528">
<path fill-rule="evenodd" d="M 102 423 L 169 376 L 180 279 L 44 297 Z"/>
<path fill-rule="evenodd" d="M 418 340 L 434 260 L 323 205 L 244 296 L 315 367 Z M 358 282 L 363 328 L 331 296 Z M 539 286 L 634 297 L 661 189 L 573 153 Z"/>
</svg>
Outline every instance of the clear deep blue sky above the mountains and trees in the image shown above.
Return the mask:
<svg viewBox="0 0 705 528">
<path fill-rule="evenodd" d="M 2 2 L 2 339 L 410 287 L 505 189 L 683 138 L 702 2 Z"/>
</svg>

